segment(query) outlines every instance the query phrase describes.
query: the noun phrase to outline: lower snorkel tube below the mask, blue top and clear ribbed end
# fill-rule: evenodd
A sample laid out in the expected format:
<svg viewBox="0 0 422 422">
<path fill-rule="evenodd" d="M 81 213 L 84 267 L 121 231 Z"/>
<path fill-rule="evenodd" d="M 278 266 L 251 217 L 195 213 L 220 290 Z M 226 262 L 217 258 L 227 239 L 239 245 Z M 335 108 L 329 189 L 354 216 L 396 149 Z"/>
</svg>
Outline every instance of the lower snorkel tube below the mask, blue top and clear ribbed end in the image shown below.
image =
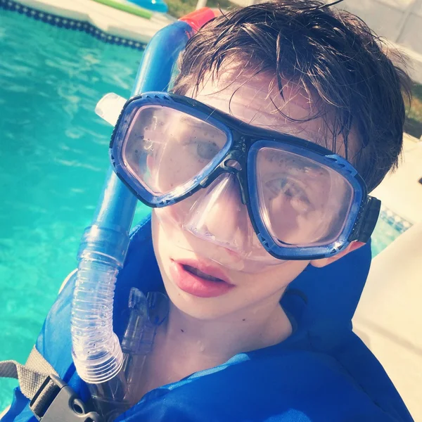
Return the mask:
<svg viewBox="0 0 422 422">
<path fill-rule="evenodd" d="M 110 380 L 122 367 L 122 348 L 113 332 L 113 300 L 135 207 L 136 198 L 109 170 L 94 224 L 85 229 L 79 246 L 72 301 L 73 360 L 79 376 L 90 384 Z M 111 210 L 116 214 L 110 215 Z"/>
</svg>

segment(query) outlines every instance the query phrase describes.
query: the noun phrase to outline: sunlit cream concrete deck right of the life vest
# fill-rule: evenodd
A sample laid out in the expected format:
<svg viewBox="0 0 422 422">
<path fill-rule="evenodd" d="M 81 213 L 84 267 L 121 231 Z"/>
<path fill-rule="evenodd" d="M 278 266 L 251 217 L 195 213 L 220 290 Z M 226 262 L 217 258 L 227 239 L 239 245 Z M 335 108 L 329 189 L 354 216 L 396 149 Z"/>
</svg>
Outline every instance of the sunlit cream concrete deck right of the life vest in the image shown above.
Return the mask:
<svg viewBox="0 0 422 422">
<path fill-rule="evenodd" d="M 353 317 L 415 421 L 422 421 L 422 221 L 377 255 Z"/>
</svg>

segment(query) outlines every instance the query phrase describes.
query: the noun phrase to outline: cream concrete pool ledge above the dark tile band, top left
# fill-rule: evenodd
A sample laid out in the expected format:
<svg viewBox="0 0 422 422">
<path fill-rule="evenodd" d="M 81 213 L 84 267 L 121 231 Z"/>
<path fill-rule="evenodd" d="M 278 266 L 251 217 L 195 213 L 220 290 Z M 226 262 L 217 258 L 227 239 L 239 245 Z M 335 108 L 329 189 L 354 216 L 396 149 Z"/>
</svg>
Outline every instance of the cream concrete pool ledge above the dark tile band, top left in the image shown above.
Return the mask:
<svg viewBox="0 0 422 422">
<path fill-rule="evenodd" d="M 14 0 L 13 3 L 87 22 L 110 35 L 133 39 L 142 44 L 148 43 L 155 32 L 174 21 L 174 18 L 162 13 L 153 13 L 151 19 L 141 18 L 92 0 Z"/>
</svg>

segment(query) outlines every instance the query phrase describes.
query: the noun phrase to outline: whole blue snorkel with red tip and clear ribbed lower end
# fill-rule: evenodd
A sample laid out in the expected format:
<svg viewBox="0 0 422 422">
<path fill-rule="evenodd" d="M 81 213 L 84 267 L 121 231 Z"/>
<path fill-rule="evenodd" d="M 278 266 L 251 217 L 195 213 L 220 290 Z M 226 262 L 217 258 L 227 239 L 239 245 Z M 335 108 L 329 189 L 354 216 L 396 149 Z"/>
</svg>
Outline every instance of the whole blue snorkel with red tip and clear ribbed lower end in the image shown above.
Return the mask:
<svg viewBox="0 0 422 422">
<path fill-rule="evenodd" d="M 143 53 L 132 96 L 145 91 L 167 91 L 179 53 L 193 33 L 214 17 L 211 9 L 203 8 L 155 34 Z M 72 357 L 77 373 L 89 385 L 94 404 L 106 420 L 131 405 L 122 370 L 124 353 L 113 332 L 113 298 L 135 209 L 136 197 L 110 168 L 94 219 L 84 231 L 77 255 Z M 134 292 L 132 309 L 136 311 L 141 302 Z M 113 407 L 117 409 L 113 411 Z"/>
</svg>

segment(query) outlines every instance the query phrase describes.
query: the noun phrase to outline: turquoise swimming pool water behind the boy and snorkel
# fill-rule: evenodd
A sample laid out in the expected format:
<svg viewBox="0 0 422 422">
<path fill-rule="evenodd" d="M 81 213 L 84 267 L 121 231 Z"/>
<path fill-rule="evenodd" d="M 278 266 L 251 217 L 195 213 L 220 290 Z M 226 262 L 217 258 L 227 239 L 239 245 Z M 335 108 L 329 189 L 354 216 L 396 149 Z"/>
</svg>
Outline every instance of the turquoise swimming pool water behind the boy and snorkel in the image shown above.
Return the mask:
<svg viewBox="0 0 422 422">
<path fill-rule="evenodd" d="M 111 128 L 95 104 L 129 96 L 141 53 L 1 8 L 0 18 L 0 360 L 25 362 L 108 167 Z M 390 223 L 378 223 L 376 252 L 399 236 Z M 0 381 L 0 409 L 12 385 Z"/>
</svg>

